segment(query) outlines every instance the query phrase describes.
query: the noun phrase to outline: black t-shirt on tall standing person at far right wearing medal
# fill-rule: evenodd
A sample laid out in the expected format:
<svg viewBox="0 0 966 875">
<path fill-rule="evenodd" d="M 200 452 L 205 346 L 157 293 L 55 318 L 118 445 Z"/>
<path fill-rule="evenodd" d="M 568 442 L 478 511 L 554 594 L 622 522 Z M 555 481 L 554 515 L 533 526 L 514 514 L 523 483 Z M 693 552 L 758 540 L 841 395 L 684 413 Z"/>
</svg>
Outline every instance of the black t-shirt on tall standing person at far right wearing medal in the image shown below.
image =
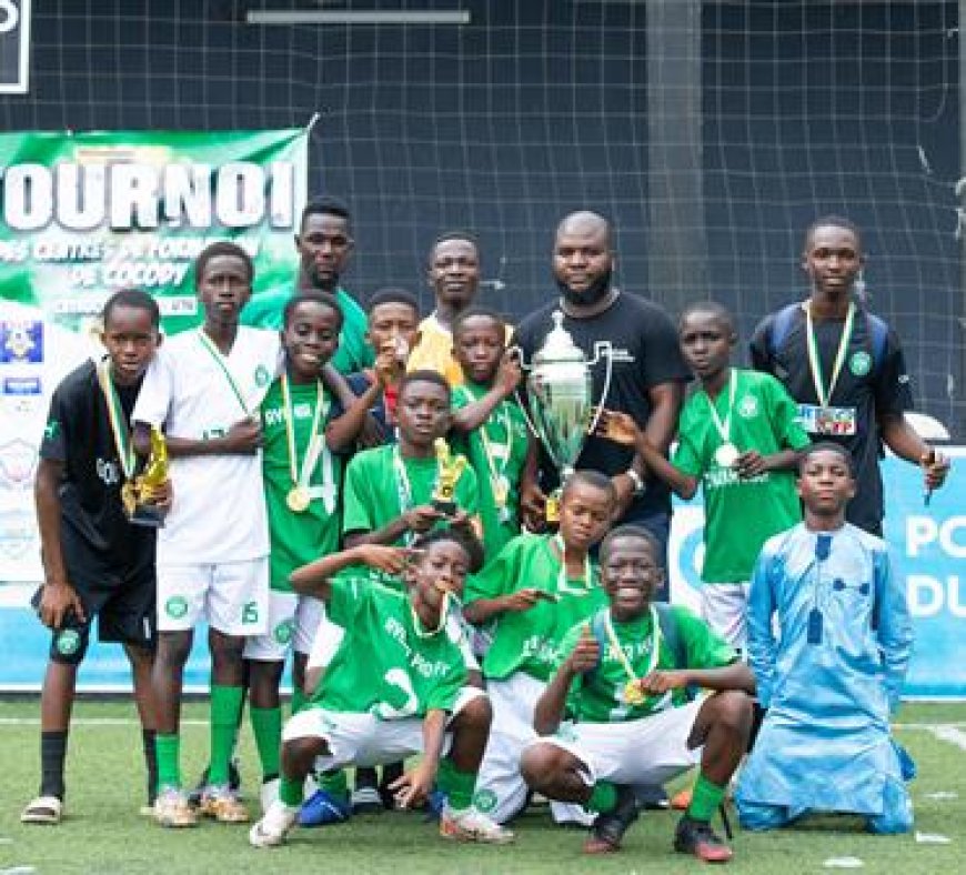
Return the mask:
<svg viewBox="0 0 966 875">
<path fill-rule="evenodd" d="M 873 330 L 866 311 L 857 308 L 852 338 L 838 380 L 828 399 L 831 408 L 853 411 L 854 434 L 835 434 L 833 429 L 818 429 L 809 408 L 819 405 L 808 366 L 808 341 L 805 312 L 795 310 L 788 331 L 773 350 L 772 340 L 777 313 L 765 316 L 755 329 L 751 342 L 752 364 L 784 383 L 798 402 L 803 426 L 814 441 L 833 441 L 852 454 L 856 475 L 856 494 L 846 509 L 846 517 L 867 532 L 879 534 L 885 513 L 878 457 L 882 453 L 878 423 L 884 415 L 900 415 L 913 408 L 909 378 L 902 344 L 896 333 L 887 329 L 885 343 L 874 349 Z M 842 338 L 844 319 L 815 322 L 818 359 L 827 391 Z M 829 433 L 832 431 L 833 433 Z"/>
</svg>

